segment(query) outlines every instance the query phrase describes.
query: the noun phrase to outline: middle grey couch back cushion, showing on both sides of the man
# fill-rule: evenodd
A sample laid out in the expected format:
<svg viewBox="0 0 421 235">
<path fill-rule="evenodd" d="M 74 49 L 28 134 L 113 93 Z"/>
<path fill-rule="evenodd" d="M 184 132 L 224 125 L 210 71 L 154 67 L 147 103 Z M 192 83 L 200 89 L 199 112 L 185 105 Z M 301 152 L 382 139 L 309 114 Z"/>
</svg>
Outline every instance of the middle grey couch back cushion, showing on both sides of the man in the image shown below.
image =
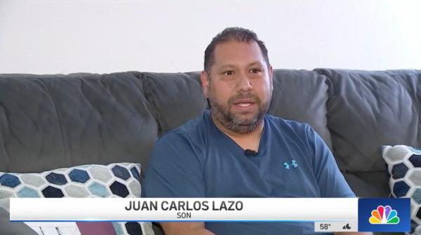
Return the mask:
<svg viewBox="0 0 421 235">
<path fill-rule="evenodd" d="M 206 108 L 200 72 L 142 73 L 145 97 L 156 110 L 159 135 L 199 116 Z M 274 93 L 269 114 L 309 123 L 331 146 L 326 127 L 326 76 L 308 70 L 274 70 Z"/>
</svg>

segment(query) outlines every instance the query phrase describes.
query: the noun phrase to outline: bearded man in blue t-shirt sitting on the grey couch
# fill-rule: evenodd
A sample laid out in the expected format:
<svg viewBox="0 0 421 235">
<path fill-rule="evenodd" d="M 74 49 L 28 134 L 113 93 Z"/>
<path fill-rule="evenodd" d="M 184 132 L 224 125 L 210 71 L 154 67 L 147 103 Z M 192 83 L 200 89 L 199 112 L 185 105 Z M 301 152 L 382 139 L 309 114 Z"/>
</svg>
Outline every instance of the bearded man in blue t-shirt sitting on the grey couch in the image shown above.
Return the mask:
<svg viewBox="0 0 421 235">
<path fill-rule="evenodd" d="M 272 66 L 254 32 L 227 28 L 205 51 L 210 111 L 156 142 L 147 197 L 354 197 L 307 124 L 267 114 Z M 284 163 L 296 164 L 287 170 Z M 302 222 L 163 222 L 166 234 L 313 234 Z"/>
</svg>

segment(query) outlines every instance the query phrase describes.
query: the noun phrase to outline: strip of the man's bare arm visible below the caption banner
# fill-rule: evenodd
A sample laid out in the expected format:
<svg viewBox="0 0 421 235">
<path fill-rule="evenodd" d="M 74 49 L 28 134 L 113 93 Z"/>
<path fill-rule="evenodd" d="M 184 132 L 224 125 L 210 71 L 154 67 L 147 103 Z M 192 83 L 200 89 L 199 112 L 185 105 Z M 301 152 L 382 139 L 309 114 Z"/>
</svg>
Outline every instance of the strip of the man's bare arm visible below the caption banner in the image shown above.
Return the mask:
<svg viewBox="0 0 421 235">
<path fill-rule="evenodd" d="M 203 222 L 163 222 L 160 224 L 166 235 L 215 235 L 205 228 Z"/>
</svg>

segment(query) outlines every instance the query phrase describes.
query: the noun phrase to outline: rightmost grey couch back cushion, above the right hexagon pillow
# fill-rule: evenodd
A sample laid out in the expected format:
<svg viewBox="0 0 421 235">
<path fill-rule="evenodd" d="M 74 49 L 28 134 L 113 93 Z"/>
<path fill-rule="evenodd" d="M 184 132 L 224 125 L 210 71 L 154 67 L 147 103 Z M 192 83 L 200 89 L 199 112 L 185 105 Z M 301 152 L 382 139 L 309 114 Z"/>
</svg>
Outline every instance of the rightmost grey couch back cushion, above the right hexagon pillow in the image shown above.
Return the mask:
<svg viewBox="0 0 421 235">
<path fill-rule="evenodd" d="M 333 84 L 328 128 L 341 170 L 384 171 L 382 145 L 421 142 L 421 71 L 315 71 Z"/>
</svg>

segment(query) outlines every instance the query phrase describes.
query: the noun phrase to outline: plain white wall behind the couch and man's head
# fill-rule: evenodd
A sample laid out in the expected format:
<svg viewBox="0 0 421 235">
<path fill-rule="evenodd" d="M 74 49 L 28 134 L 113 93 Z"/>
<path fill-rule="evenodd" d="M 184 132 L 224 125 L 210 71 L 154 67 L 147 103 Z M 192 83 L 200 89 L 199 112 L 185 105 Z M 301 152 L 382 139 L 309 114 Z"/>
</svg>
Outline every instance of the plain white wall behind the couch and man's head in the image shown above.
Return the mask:
<svg viewBox="0 0 421 235">
<path fill-rule="evenodd" d="M 0 0 L 0 73 L 187 72 L 253 29 L 274 68 L 421 69 L 421 1 Z"/>
</svg>

